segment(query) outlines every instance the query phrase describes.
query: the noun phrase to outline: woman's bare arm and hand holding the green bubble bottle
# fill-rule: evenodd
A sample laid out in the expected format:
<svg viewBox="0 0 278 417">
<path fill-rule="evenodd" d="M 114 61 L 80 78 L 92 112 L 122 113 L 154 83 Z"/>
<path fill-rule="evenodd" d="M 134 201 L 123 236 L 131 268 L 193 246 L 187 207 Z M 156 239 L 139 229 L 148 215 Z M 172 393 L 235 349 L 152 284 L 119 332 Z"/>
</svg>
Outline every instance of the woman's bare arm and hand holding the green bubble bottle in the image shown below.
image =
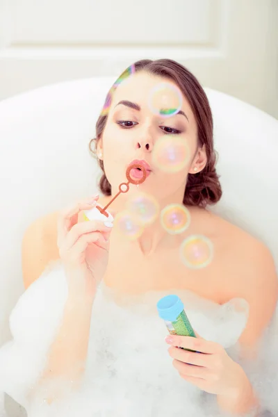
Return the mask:
<svg viewBox="0 0 278 417">
<path fill-rule="evenodd" d="M 243 297 L 250 304 L 250 316 L 239 341 L 244 356 L 247 357 L 251 352 L 256 360 L 254 352 L 257 342 L 270 323 L 277 305 L 278 279 L 275 263 L 267 248 L 261 244 L 256 246 L 256 250 L 252 247 L 247 259 L 250 260 L 250 257 L 252 262 L 242 265 L 241 272 L 245 279 L 240 280 L 233 296 Z M 243 368 L 229 357 L 220 344 L 197 336 L 171 335 L 166 338 L 167 343 L 172 345 L 169 353 L 179 375 L 203 391 L 216 394 L 223 411 L 243 414 L 259 409 L 259 400 Z M 181 350 L 176 346 L 202 354 Z"/>
</svg>

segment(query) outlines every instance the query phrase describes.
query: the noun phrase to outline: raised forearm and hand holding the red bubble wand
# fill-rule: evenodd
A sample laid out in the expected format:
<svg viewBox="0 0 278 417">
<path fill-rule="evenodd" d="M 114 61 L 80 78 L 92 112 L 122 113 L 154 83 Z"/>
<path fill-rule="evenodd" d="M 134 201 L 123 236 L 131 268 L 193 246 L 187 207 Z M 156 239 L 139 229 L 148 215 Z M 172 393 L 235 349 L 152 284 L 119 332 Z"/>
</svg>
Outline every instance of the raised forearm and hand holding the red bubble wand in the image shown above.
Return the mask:
<svg viewBox="0 0 278 417">
<path fill-rule="evenodd" d="M 97 284 L 106 270 L 111 232 L 111 228 L 106 227 L 103 222 L 77 222 L 78 213 L 92 208 L 93 205 L 84 202 L 59 216 L 57 245 L 67 278 L 68 294 L 63 319 L 47 354 L 47 365 L 29 399 L 41 387 L 44 389 L 44 398 L 51 402 L 63 395 L 63 384 L 59 384 L 57 388 L 57 384 L 51 382 L 62 378 L 67 386 L 70 383 L 74 389 L 83 375 L 92 303 Z"/>
</svg>

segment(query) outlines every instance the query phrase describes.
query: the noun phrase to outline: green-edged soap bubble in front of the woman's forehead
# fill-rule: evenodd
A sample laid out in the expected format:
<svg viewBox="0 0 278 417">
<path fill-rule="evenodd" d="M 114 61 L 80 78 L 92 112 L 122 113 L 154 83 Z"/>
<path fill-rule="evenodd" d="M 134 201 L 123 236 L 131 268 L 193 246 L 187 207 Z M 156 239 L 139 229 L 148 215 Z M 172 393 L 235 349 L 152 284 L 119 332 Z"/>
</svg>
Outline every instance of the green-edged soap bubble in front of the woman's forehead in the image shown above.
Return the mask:
<svg viewBox="0 0 278 417">
<path fill-rule="evenodd" d="M 149 108 L 155 115 L 171 117 L 179 113 L 182 101 L 179 88 L 170 83 L 160 83 L 150 92 Z"/>
</svg>

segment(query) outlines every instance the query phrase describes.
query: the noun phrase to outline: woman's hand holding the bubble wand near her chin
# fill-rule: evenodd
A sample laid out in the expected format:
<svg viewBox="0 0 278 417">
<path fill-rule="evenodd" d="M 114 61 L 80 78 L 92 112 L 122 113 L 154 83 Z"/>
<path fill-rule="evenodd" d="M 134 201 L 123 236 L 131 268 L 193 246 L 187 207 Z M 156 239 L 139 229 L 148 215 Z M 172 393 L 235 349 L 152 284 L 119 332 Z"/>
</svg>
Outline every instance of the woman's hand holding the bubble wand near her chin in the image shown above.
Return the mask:
<svg viewBox="0 0 278 417">
<path fill-rule="evenodd" d="M 94 208 L 99 196 L 80 202 L 60 213 L 58 248 L 70 293 L 94 295 L 108 263 L 111 227 L 100 220 L 79 222 L 80 211 Z"/>
</svg>

